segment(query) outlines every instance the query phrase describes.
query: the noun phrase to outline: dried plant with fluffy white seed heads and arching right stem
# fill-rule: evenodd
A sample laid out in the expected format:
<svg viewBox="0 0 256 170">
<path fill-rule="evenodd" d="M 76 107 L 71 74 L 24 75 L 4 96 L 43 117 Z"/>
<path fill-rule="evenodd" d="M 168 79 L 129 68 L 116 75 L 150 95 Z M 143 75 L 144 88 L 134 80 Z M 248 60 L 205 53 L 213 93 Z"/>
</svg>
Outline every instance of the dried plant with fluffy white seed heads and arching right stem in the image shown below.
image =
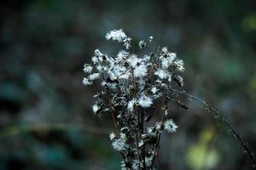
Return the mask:
<svg viewBox="0 0 256 170">
<path fill-rule="evenodd" d="M 123 169 L 157 167 L 161 134 L 165 131 L 175 133 L 178 127 L 170 118 L 169 102 L 174 101 L 189 110 L 180 95 L 200 101 L 209 111 L 213 111 L 230 127 L 255 161 L 247 144 L 218 111 L 201 99 L 178 90 L 183 87 L 180 74 L 184 71 L 184 64 L 177 54 L 169 52 L 166 47 L 156 47 L 154 37 L 138 42 L 137 46 L 140 53 L 145 53 L 144 49 L 150 47 L 152 51 L 133 54 L 131 51 L 136 46 L 132 46 L 131 37 L 127 37 L 122 30 L 108 32 L 106 39 L 123 43 L 125 49 L 121 49 L 116 56 L 96 49 L 91 59 L 93 65 L 84 65 L 88 77 L 84 77 L 83 83 L 87 86 L 96 79 L 102 80 L 102 91 L 94 96 L 96 104 L 92 108 L 96 116 L 111 115 L 114 130 L 109 137 L 113 149 L 119 151 L 123 158 Z"/>
</svg>

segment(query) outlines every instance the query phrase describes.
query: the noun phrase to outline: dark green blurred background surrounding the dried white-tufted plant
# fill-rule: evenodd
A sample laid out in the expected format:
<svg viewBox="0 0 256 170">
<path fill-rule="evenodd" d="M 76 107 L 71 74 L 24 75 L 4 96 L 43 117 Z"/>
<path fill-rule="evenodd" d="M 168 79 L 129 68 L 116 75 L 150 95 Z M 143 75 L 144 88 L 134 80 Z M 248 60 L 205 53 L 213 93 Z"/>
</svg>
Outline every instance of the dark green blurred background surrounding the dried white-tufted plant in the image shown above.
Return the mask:
<svg viewBox="0 0 256 170">
<path fill-rule="evenodd" d="M 253 0 L 23 0 L 0 3 L 0 169 L 120 169 L 109 116 L 92 116 L 100 86 L 82 85 L 104 35 L 154 36 L 185 62 L 184 89 L 214 105 L 256 152 L 256 2 Z M 159 169 L 252 169 L 205 108 L 172 107 Z"/>
</svg>

